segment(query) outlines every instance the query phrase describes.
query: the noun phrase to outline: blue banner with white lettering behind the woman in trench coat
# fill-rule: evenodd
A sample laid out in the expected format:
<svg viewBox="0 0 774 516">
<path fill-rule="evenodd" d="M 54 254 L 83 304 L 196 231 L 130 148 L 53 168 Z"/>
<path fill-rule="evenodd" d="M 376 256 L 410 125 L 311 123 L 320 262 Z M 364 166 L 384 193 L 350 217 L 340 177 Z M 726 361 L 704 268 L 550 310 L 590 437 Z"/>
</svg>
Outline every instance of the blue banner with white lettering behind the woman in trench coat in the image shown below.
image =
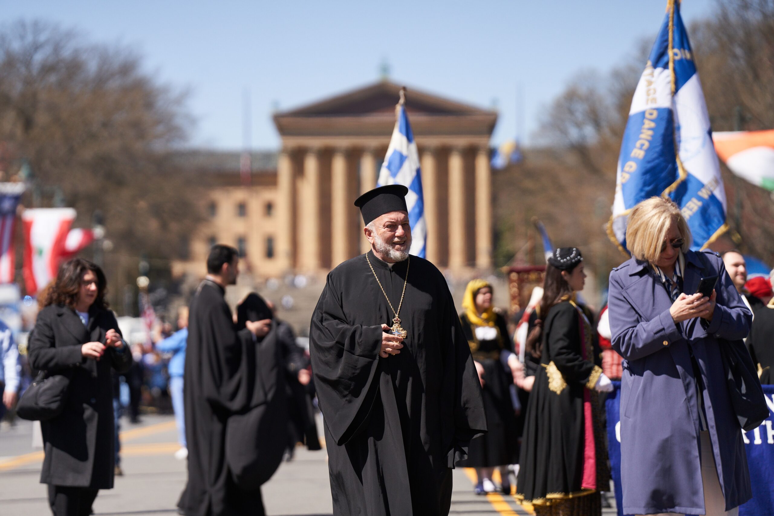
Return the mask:
<svg viewBox="0 0 774 516">
<path fill-rule="evenodd" d="M 621 488 L 621 382 L 614 381 L 615 390 L 605 401 L 608 419 L 608 456 L 610 457 L 615 505 L 618 516 L 623 514 L 623 490 Z M 774 516 L 774 385 L 763 385 L 763 395 L 769 405 L 769 418 L 752 432 L 742 432 L 750 470 L 752 499 L 739 506 L 739 516 Z"/>
</svg>

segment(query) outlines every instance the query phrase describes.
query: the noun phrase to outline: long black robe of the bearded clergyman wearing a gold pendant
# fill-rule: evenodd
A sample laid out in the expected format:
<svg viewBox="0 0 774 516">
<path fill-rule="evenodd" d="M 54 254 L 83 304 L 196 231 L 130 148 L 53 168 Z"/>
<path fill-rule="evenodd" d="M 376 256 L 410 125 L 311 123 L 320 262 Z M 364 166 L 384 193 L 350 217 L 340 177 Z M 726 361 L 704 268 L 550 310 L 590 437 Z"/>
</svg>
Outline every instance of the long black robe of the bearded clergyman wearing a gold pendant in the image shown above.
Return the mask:
<svg viewBox="0 0 774 516">
<path fill-rule="evenodd" d="M 448 514 L 451 470 L 486 431 L 481 385 L 444 276 L 423 258 L 368 258 L 408 332 L 378 356 L 393 313 L 366 256 L 327 278 L 310 329 L 334 514 Z"/>
</svg>

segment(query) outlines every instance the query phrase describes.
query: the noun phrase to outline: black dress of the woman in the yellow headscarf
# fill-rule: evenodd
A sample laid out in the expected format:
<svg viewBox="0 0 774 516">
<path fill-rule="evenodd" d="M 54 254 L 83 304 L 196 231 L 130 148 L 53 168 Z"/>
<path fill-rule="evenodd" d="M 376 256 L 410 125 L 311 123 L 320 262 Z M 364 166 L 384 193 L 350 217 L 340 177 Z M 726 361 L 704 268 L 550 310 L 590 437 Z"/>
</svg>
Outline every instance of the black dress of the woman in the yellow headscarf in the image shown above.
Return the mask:
<svg viewBox="0 0 774 516">
<path fill-rule="evenodd" d="M 514 464 L 519 460 L 519 453 L 518 430 L 510 391 L 513 378 L 500 361 L 503 350 L 513 350 L 505 317 L 495 313 L 495 326 L 486 326 L 487 330 L 491 329 L 486 333 L 491 333 L 494 338 L 485 340 L 477 337 L 476 328 L 479 326 L 471 323 L 467 315 L 462 313 L 460 320 L 473 360 L 484 367 L 485 384 L 481 391 L 488 432 L 471 441 L 467 459 L 461 460 L 457 465 L 491 467 Z"/>
</svg>

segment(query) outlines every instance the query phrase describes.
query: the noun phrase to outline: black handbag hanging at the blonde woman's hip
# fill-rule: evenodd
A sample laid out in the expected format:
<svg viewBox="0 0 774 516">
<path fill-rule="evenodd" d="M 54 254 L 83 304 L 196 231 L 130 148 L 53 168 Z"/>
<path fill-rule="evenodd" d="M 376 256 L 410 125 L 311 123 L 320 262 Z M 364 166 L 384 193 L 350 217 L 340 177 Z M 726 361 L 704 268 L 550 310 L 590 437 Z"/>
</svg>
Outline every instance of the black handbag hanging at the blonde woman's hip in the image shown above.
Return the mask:
<svg viewBox="0 0 774 516">
<path fill-rule="evenodd" d="M 723 373 L 736 418 L 745 432 L 758 428 L 769 417 L 769 405 L 752 357 L 741 340 L 719 339 Z"/>
</svg>

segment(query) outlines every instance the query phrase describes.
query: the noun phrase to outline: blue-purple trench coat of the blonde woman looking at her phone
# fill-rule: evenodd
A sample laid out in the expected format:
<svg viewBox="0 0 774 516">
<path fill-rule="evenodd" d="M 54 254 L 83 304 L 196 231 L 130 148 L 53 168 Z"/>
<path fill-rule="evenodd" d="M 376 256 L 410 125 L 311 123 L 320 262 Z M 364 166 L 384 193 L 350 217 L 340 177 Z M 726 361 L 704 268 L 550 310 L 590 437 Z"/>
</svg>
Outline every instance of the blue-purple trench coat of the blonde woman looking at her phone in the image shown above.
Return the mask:
<svg viewBox="0 0 774 516">
<path fill-rule="evenodd" d="M 752 497 L 741 428 L 718 346 L 747 336 L 752 314 L 714 252 L 688 251 L 683 292 L 718 275 L 712 320 L 673 323 L 672 301 L 652 268 L 632 258 L 610 274 L 612 346 L 625 358 L 621 392 L 624 514 L 704 514 L 699 405 L 689 347 L 700 367 L 704 408 L 726 510 Z"/>
</svg>

